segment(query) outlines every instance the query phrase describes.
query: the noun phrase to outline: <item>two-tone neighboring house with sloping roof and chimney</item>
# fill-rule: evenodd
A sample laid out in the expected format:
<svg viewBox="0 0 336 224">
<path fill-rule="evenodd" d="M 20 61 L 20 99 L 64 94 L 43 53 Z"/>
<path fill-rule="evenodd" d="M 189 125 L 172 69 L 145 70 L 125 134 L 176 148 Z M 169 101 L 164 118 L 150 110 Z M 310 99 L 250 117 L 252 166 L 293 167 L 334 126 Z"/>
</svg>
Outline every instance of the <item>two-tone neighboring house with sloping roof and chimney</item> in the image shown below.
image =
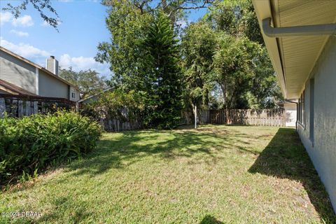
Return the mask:
<svg viewBox="0 0 336 224">
<path fill-rule="evenodd" d="M 58 76 L 58 62 L 55 57 L 50 56 L 46 59 L 45 66 L 46 69 L 0 47 L 0 80 L 2 80 L 0 93 L 13 94 L 13 90 L 8 88 L 10 85 L 12 88 L 16 86 L 17 89 L 25 90 L 24 94 L 78 101 L 78 88 Z M 23 92 L 17 92 L 23 94 Z"/>
</svg>

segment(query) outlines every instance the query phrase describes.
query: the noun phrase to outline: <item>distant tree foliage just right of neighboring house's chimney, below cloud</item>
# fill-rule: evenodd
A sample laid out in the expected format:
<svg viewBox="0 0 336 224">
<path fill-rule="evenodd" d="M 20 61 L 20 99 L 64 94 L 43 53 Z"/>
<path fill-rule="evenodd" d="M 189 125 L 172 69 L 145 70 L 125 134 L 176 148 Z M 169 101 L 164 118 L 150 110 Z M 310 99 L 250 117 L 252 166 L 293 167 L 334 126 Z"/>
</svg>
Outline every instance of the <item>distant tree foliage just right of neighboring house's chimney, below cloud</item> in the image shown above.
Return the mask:
<svg viewBox="0 0 336 224">
<path fill-rule="evenodd" d="M 106 78 L 104 76 L 99 76 L 97 71 L 91 69 L 77 72 L 69 67 L 69 69 L 61 69 L 59 76 L 69 83 L 76 85 L 80 90 L 82 98 L 102 92 L 102 90 L 107 87 Z"/>
</svg>

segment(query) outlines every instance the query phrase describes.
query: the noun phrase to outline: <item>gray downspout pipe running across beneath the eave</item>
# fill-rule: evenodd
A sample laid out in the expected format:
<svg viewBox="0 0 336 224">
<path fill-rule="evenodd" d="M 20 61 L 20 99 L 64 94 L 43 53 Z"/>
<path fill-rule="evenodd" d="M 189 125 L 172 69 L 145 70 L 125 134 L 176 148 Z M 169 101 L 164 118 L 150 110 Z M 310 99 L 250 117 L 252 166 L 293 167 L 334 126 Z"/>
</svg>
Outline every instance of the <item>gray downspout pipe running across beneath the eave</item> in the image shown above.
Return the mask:
<svg viewBox="0 0 336 224">
<path fill-rule="evenodd" d="M 336 34 L 336 24 L 307 25 L 297 27 L 271 27 L 271 18 L 262 20 L 262 30 L 268 37 L 323 36 Z"/>
</svg>

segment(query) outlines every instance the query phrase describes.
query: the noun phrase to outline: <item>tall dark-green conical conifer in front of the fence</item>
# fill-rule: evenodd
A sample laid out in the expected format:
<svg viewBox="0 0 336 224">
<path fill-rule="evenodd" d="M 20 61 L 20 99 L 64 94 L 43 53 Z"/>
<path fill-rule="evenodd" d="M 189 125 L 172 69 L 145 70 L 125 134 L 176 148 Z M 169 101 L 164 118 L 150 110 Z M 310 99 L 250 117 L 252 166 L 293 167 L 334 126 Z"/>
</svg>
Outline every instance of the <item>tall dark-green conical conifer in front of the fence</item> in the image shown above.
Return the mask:
<svg viewBox="0 0 336 224">
<path fill-rule="evenodd" d="M 181 69 L 179 46 L 174 28 L 164 13 L 158 13 L 143 43 L 143 72 L 148 121 L 154 127 L 169 129 L 181 113 Z"/>
</svg>

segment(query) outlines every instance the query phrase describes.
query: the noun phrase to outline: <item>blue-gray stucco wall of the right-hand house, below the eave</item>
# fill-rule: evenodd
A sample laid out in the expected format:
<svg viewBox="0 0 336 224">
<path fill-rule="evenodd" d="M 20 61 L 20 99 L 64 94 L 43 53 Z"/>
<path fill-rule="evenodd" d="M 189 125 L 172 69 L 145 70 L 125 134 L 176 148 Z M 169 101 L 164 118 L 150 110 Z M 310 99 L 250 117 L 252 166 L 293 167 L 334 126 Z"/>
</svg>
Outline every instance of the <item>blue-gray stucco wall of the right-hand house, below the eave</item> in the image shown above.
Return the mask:
<svg viewBox="0 0 336 224">
<path fill-rule="evenodd" d="M 310 78 L 314 78 L 314 141 L 309 139 Z M 305 87 L 305 125 L 297 132 L 336 212 L 336 36 L 331 36 Z"/>
</svg>

